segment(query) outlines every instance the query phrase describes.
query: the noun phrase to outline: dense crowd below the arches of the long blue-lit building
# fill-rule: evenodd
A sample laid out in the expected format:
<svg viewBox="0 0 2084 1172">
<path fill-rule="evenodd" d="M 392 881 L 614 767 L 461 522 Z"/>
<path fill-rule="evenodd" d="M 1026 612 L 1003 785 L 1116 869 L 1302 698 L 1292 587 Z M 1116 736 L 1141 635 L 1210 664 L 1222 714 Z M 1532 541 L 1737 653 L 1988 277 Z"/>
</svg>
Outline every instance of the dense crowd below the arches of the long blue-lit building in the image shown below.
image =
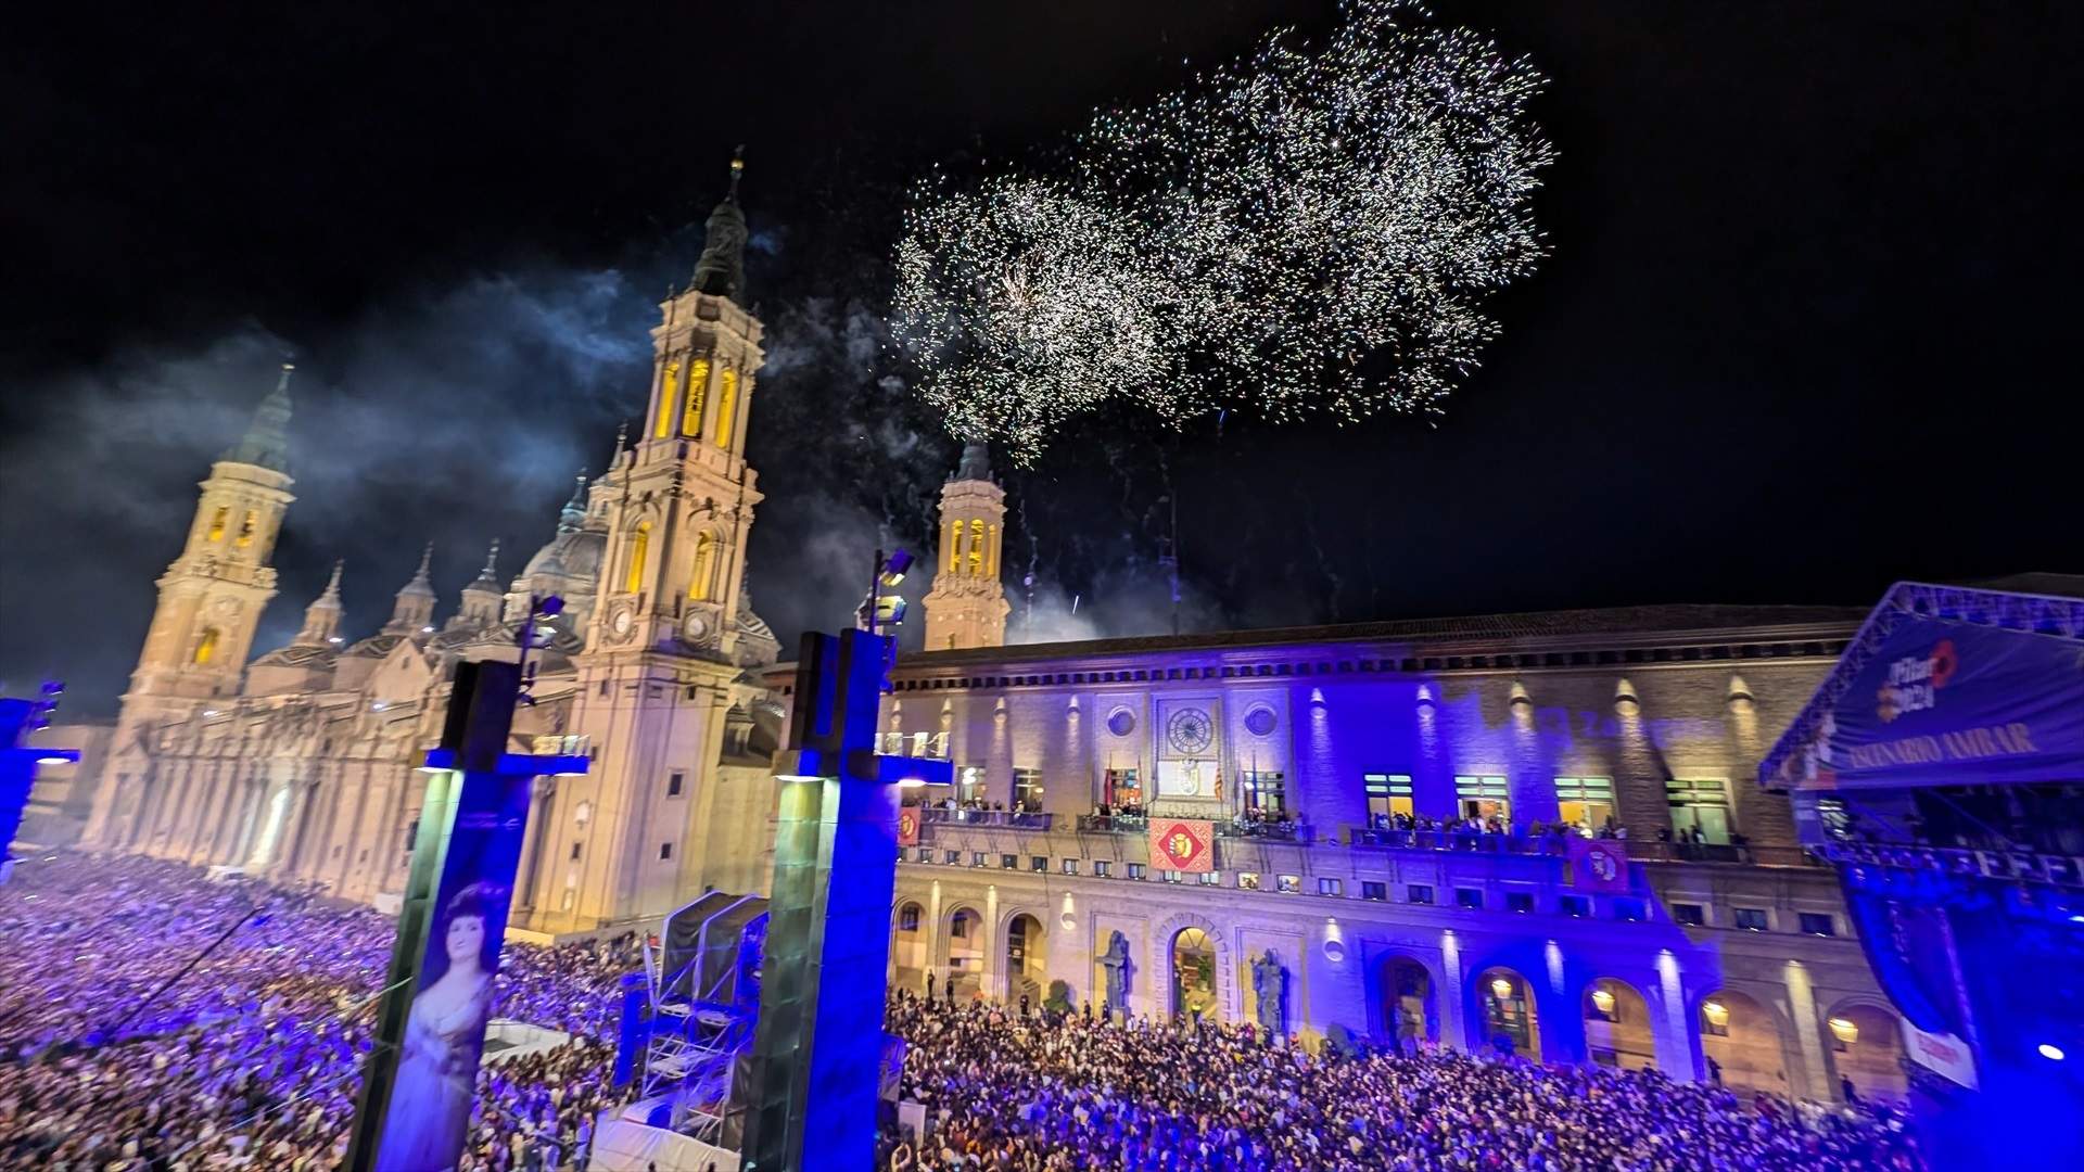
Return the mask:
<svg viewBox="0 0 2084 1172">
<path fill-rule="evenodd" d="M 888 1172 L 967 1170 L 1913 1170 L 1899 1120 L 1657 1072 L 1453 1051 L 1321 1055 L 1250 1028 L 1029 1016 L 900 995 L 902 1097 L 925 1137 Z"/>
</svg>

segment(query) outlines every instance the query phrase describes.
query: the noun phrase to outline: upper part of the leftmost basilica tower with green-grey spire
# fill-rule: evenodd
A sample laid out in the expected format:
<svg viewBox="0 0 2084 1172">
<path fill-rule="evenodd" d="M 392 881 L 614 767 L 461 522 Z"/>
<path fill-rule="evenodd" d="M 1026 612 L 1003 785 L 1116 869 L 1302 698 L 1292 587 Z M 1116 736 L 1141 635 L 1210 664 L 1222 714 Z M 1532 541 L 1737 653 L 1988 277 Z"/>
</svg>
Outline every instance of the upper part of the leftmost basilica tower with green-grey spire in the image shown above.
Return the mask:
<svg viewBox="0 0 2084 1172">
<path fill-rule="evenodd" d="M 158 580 L 158 607 L 125 707 L 133 699 L 208 701 L 240 690 L 260 609 L 275 596 L 275 536 L 290 509 L 290 367 L 246 436 L 210 465 L 181 555 Z"/>
</svg>

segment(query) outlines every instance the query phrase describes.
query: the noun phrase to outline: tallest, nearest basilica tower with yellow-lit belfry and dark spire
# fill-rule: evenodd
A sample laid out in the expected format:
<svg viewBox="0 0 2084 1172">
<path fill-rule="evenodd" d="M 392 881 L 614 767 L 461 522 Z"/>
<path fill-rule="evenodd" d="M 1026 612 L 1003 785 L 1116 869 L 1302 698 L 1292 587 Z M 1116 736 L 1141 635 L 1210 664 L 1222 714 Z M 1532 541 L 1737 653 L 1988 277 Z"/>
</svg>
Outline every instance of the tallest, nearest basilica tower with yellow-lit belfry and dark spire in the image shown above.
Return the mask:
<svg viewBox="0 0 2084 1172">
<path fill-rule="evenodd" d="M 744 457 L 765 355 L 744 302 L 742 173 L 734 158 L 694 277 L 659 304 L 636 444 L 590 490 L 606 534 L 569 732 L 590 738 L 594 770 L 559 780 L 538 807 L 531 832 L 559 845 L 559 865 L 517 897 L 538 930 L 659 915 L 706 882 L 725 715 L 750 653 L 740 594 L 761 500 Z"/>
</svg>

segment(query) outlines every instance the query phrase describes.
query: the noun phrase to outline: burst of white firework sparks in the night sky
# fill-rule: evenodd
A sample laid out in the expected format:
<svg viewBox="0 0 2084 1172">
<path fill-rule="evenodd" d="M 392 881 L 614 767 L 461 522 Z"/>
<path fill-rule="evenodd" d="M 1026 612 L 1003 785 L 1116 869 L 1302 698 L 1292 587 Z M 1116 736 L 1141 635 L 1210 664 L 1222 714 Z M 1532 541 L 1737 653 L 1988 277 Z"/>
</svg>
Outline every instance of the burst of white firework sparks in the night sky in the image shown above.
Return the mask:
<svg viewBox="0 0 2084 1172">
<path fill-rule="evenodd" d="M 1113 398 L 1177 425 L 1436 413 L 1544 254 L 1544 79 L 1467 29 L 1350 0 L 1313 46 L 1102 111 L 1067 173 L 915 190 L 892 336 L 961 436 L 1027 463 Z"/>
</svg>

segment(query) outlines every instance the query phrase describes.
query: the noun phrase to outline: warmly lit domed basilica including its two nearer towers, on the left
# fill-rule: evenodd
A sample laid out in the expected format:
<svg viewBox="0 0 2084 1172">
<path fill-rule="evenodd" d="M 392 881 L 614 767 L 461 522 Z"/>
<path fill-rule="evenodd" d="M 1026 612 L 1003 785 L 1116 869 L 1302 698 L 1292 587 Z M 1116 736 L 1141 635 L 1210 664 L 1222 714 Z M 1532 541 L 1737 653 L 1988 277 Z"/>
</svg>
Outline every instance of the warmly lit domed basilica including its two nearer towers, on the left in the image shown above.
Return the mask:
<svg viewBox="0 0 2084 1172">
<path fill-rule="evenodd" d="M 556 936 L 663 915 L 681 895 L 767 880 L 779 713 L 748 672 L 773 632 L 744 590 L 761 500 L 744 461 L 761 323 L 746 221 L 709 217 L 694 279 L 661 304 L 644 430 L 563 507 L 511 582 L 498 548 L 436 619 L 429 548 L 367 638 L 340 628 L 344 573 L 302 630 L 248 663 L 292 503 L 290 380 L 202 482 L 94 784 L 83 845 L 315 882 L 396 907 L 454 665 L 513 659 L 529 599 L 559 594 L 521 736 L 573 736 L 584 778 L 542 778 L 513 924 Z M 352 582 L 352 576 L 348 576 Z M 69 801 L 79 805 L 77 795 Z"/>
</svg>

